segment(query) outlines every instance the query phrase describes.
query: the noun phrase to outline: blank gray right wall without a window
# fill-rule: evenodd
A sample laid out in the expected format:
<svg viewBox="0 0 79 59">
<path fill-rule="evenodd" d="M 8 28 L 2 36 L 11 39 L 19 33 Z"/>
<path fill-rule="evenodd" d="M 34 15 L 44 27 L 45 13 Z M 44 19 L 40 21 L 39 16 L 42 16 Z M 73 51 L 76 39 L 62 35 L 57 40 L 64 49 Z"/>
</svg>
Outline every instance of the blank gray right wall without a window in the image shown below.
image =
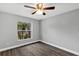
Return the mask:
<svg viewBox="0 0 79 59">
<path fill-rule="evenodd" d="M 44 19 L 42 40 L 79 53 L 79 9 Z"/>
</svg>

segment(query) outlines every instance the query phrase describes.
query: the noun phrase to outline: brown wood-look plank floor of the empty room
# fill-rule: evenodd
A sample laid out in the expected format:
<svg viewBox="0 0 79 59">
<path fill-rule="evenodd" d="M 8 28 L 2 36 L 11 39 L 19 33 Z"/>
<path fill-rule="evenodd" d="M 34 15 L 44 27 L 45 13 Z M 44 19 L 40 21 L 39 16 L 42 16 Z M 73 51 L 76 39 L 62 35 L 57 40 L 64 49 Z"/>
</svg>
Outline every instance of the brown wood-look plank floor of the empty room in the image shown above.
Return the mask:
<svg viewBox="0 0 79 59">
<path fill-rule="evenodd" d="M 0 52 L 0 56 L 76 56 L 59 48 L 37 42 Z"/>
</svg>

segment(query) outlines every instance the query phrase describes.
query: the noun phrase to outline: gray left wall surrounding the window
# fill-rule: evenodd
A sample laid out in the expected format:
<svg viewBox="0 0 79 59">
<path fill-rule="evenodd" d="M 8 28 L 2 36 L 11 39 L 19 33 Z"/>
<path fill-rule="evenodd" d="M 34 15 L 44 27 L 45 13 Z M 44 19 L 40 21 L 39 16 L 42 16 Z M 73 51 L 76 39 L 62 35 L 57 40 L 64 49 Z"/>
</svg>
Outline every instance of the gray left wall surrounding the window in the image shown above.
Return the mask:
<svg viewBox="0 0 79 59">
<path fill-rule="evenodd" d="M 30 22 L 32 24 L 32 39 L 18 40 L 17 22 Z M 0 49 L 34 42 L 39 40 L 39 21 L 17 15 L 0 12 Z"/>
</svg>

